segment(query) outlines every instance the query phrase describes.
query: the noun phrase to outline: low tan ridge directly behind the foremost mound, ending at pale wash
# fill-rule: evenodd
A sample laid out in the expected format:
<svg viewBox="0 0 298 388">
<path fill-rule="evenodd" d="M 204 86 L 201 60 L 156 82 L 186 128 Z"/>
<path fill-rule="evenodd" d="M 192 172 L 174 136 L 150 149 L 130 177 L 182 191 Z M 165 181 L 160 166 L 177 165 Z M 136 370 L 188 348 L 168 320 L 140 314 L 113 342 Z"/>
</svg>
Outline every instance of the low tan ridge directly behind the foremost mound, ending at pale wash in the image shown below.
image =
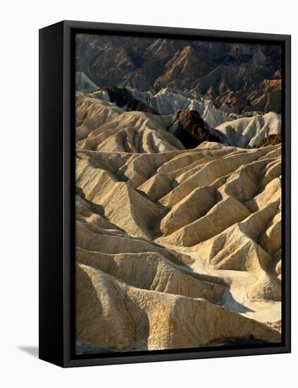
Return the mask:
<svg viewBox="0 0 298 388">
<path fill-rule="evenodd" d="M 175 265 L 161 253 L 105 254 L 77 248 L 76 260 L 111 274 L 139 289 L 154 290 L 217 302 L 227 286 L 216 277 L 199 275 Z"/>
</svg>

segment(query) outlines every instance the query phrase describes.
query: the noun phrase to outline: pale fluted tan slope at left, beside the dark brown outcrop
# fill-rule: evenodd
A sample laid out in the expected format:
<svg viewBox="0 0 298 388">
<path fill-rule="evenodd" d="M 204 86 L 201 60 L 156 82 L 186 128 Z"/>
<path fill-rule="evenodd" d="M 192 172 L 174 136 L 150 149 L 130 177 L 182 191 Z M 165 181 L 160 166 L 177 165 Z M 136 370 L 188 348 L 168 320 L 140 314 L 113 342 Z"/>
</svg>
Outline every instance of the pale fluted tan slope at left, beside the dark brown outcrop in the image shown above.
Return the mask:
<svg viewBox="0 0 298 388">
<path fill-rule="evenodd" d="M 99 97 L 111 99 L 108 90 L 101 90 Z M 184 149 L 180 141 L 167 131 L 168 126 L 173 123 L 173 116 L 125 111 L 116 104 L 94 98 L 97 96 L 89 96 L 78 95 L 76 100 L 76 132 L 77 140 L 80 140 L 77 147 L 107 152 L 164 152 Z M 123 96 L 120 98 L 123 101 Z M 129 102 L 134 103 L 131 99 Z M 141 108 L 145 109 L 142 106 Z"/>
</svg>

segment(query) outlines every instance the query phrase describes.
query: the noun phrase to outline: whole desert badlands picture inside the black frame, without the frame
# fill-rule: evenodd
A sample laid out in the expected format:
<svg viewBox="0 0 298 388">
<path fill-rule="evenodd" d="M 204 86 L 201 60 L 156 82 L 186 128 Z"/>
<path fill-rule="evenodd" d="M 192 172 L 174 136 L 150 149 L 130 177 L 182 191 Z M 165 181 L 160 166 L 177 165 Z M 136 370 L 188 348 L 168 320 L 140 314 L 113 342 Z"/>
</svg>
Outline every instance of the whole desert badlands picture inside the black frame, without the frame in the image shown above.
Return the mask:
<svg viewBox="0 0 298 388">
<path fill-rule="evenodd" d="M 77 40 L 77 353 L 279 342 L 278 49 L 114 38 Z"/>
</svg>

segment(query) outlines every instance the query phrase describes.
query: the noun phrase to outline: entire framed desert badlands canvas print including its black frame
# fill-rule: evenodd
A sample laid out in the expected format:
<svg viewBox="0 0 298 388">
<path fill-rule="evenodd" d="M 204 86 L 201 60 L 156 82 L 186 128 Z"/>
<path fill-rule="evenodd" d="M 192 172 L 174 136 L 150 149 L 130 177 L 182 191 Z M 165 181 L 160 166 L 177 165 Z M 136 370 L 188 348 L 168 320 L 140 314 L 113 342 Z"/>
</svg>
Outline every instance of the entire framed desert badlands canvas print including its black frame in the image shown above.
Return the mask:
<svg viewBox="0 0 298 388">
<path fill-rule="evenodd" d="M 39 30 L 39 358 L 290 352 L 290 36 Z"/>
</svg>

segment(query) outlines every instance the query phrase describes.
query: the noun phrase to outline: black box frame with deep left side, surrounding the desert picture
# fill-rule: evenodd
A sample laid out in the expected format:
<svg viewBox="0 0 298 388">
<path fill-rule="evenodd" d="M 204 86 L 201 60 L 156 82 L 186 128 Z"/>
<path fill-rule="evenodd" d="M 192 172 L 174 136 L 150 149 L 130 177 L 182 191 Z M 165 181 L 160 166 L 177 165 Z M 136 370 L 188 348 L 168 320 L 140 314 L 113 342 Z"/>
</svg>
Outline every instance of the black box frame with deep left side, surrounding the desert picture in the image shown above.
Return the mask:
<svg viewBox="0 0 298 388">
<path fill-rule="evenodd" d="M 75 356 L 74 34 L 280 44 L 283 52 L 283 334 L 280 344 Z M 61 367 L 289 353 L 291 37 L 64 20 L 39 30 L 39 358 Z"/>
</svg>

